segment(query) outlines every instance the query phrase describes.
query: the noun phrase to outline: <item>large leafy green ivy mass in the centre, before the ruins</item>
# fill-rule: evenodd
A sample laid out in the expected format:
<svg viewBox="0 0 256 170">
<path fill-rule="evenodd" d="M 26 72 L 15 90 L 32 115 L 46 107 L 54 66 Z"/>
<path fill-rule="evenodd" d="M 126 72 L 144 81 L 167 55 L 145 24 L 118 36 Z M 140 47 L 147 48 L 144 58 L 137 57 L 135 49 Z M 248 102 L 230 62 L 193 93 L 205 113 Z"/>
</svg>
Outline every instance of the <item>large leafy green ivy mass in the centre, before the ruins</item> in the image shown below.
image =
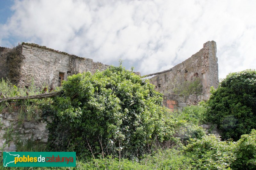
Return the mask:
<svg viewBox="0 0 256 170">
<path fill-rule="evenodd" d="M 56 151 L 135 158 L 164 138 L 162 94 L 122 66 L 73 75 L 62 90 L 48 128 Z"/>
</svg>

